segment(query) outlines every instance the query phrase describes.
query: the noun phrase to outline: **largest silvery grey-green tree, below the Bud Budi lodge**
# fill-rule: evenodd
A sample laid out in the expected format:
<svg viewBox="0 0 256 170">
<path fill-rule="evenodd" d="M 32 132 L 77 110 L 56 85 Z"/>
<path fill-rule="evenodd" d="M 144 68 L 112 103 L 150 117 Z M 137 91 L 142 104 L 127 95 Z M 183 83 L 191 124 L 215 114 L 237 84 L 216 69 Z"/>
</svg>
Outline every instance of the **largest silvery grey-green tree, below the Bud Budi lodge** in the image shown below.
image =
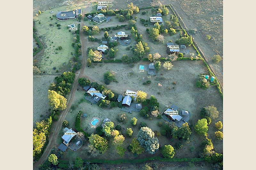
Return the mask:
<svg viewBox="0 0 256 170">
<path fill-rule="evenodd" d="M 137 139 L 140 146 L 144 147 L 150 154 L 154 154 L 159 148 L 158 138 L 155 138 L 155 133 L 148 127 L 140 128 Z"/>
</svg>

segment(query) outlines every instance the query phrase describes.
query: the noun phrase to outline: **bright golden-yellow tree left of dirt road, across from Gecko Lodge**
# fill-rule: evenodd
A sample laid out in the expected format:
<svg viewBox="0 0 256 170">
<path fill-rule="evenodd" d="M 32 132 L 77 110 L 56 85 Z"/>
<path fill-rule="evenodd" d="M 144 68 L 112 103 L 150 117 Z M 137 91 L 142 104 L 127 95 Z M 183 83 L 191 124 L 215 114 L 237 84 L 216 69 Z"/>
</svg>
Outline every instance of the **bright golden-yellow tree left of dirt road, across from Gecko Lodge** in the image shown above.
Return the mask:
<svg viewBox="0 0 256 170">
<path fill-rule="evenodd" d="M 48 90 L 48 99 L 50 107 L 53 110 L 64 110 L 67 107 L 67 99 L 59 95 L 56 91 Z"/>
</svg>

